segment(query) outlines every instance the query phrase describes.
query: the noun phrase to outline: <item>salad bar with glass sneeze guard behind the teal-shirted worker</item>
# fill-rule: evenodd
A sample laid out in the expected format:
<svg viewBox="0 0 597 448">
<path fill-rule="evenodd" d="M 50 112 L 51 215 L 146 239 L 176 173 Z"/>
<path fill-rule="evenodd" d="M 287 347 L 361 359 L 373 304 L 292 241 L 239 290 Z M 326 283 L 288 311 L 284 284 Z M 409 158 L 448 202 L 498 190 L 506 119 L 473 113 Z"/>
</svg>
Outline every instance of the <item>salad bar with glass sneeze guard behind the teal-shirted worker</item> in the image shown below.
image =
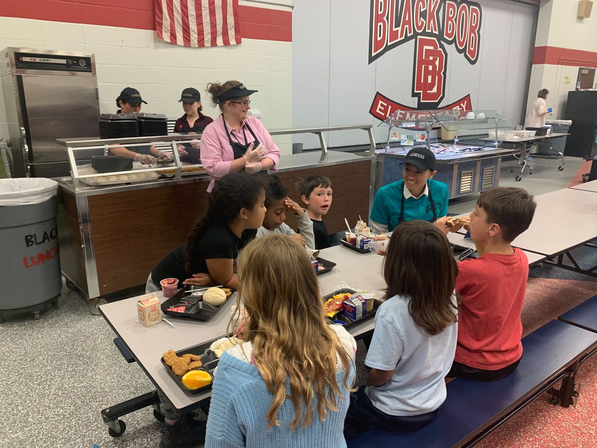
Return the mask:
<svg viewBox="0 0 597 448">
<path fill-rule="evenodd" d="M 448 185 L 450 199 L 498 186 L 501 158 L 515 149 L 500 143 L 513 128 L 497 111 L 395 111 L 380 126 L 387 127 L 387 146 L 377 152 L 375 190 L 402 179 L 402 161 L 413 145 L 435 153 L 435 180 Z M 400 140 L 390 149 L 390 140 Z"/>
</svg>

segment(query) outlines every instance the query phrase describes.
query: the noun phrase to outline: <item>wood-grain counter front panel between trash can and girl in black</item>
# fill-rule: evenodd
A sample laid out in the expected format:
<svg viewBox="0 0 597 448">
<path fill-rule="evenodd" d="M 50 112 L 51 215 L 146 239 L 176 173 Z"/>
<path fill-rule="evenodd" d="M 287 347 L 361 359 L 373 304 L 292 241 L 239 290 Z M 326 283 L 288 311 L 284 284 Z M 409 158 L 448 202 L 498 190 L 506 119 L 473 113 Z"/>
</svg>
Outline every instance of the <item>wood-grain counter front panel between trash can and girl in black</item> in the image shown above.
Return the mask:
<svg viewBox="0 0 597 448">
<path fill-rule="evenodd" d="M 88 197 L 100 294 L 144 284 L 207 207 L 207 182 Z"/>
</svg>

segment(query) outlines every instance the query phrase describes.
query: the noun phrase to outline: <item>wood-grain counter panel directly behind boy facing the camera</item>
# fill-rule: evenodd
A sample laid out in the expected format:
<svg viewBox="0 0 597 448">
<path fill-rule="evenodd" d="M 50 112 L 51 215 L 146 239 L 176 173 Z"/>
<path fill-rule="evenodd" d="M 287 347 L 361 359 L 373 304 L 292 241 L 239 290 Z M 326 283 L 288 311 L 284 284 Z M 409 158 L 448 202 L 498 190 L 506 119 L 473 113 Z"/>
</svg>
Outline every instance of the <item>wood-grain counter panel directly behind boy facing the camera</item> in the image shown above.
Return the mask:
<svg viewBox="0 0 597 448">
<path fill-rule="evenodd" d="M 324 216 L 328 233 L 334 234 L 346 229 L 344 218 L 351 226 L 356 224 L 359 214 L 365 222 L 369 220 L 369 192 L 371 185 L 371 160 L 311 168 L 309 170 L 285 171 L 278 176 L 288 188 L 288 195 L 302 205 L 300 189 L 296 184 L 310 174 L 326 176 L 333 186 L 333 200 L 330 211 Z M 286 213 L 286 221 L 291 228 L 297 229 L 293 213 Z"/>
</svg>

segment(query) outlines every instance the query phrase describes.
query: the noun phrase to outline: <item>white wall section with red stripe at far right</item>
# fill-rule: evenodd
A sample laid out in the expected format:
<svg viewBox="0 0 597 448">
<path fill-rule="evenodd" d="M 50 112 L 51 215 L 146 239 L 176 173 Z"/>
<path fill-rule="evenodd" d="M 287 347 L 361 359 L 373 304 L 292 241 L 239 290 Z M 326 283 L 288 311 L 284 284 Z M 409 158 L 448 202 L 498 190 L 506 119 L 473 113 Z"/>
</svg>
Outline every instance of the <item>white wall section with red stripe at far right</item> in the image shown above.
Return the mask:
<svg viewBox="0 0 597 448">
<path fill-rule="evenodd" d="M 546 88 L 553 118 L 564 118 L 568 92 L 576 90 L 578 69 L 597 67 L 595 8 L 587 19 L 578 19 L 577 10 L 577 0 L 541 1 L 527 108 Z"/>
</svg>

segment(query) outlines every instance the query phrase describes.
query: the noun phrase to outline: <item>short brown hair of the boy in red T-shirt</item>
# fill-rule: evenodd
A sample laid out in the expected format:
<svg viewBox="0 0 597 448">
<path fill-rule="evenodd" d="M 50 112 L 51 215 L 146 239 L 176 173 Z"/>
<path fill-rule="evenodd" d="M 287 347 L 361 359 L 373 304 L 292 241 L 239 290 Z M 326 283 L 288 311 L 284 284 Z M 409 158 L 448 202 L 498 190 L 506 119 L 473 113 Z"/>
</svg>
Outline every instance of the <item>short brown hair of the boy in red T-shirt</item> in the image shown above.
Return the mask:
<svg viewBox="0 0 597 448">
<path fill-rule="evenodd" d="M 482 192 L 477 205 L 487 214 L 487 223 L 499 225 L 501 238 L 512 243 L 531 225 L 537 202 L 524 188 L 496 187 Z"/>
</svg>

